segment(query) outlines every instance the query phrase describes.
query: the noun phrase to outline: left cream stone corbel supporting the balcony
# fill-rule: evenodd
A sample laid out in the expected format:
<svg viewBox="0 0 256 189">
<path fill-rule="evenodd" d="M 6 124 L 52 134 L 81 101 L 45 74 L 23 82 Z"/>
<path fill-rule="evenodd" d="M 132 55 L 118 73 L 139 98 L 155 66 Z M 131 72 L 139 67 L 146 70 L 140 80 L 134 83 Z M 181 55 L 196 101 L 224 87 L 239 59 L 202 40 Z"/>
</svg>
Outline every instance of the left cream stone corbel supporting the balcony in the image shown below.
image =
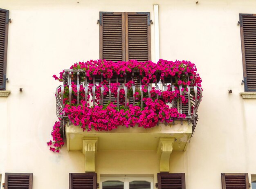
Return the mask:
<svg viewBox="0 0 256 189">
<path fill-rule="evenodd" d="M 85 155 L 85 172 L 95 172 L 95 153 L 98 137 L 83 137 L 83 154 Z"/>
</svg>

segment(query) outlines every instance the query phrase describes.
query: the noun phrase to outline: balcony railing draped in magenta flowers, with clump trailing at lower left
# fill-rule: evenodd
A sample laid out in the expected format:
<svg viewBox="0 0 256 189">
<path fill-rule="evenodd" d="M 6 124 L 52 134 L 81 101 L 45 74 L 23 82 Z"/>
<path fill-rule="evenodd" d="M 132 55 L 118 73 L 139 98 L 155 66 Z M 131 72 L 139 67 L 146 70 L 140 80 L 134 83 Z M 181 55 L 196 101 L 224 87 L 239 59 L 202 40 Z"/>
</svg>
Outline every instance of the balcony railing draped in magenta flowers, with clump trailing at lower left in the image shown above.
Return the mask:
<svg viewBox="0 0 256 189">
<path fill-rule="evenodd" d="M 150 128 L 177 119 L 195 122 L 202 98 L 202 79 L 188 61 L 90 60 L 53 77 L 63 82 L 56 90 L 60 121 L 53 127 L 53 141 L 47 143 L 53 152 L 64 145 L 65 117 L 83 131 L 120 125 Z"/>
</svg>

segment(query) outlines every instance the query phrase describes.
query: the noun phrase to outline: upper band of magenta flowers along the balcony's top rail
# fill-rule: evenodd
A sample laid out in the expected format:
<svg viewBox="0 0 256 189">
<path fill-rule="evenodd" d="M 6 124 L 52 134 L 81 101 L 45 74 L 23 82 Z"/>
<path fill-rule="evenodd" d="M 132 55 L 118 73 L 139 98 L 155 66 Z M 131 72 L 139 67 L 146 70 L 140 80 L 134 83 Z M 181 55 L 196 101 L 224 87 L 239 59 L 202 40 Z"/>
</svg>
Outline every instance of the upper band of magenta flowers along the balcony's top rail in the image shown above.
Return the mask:
<svg viewBox="0 0 256 189">
<path fill-rule="evenodd" d="M 167 61 L 159 59 L 157 64 L 152 61 L 138 62 L 137 60 L 130 60 L 128 62 L 119 61 L 112 62 L 107 60 L 90 60 L 87 62 L 79 62 L 70 67 L 70 69 L 81 69 L 86 72 L 87 77 L 92 80 L 92 76 L 99 76 L 103 73 L 104 78 L 112 78 L 113 75 L 120 75 L 124 77 L 125 74 L 131 73 L 132 71 L 138 72 L 143 77 L 144 83 L 155 82 L 157 75 L 160 74 L 161 79 L 164 77 L 171 76 L 174 78 L 174 84 L 178 81 L 182 82 L 179 84 L 191 86 L 201 86 L 202 79 L 197 73 L 195 64 L 189 61 Z M 60 73 L 60 77 L 54 75 L 55 80 L 63 81 L 64 70 Z"/>
</svg>

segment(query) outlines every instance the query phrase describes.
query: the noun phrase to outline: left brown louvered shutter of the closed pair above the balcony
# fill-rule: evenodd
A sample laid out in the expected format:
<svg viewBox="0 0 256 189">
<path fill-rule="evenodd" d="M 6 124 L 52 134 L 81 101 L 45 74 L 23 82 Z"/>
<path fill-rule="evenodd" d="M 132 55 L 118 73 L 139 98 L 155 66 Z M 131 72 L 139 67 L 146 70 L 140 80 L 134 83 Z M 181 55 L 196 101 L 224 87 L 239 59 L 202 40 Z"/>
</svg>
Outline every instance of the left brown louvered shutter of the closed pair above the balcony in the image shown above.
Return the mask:
<svg viewBox="0 0 256 189">
<path fill-rule="evenodd" d="M 100 59 L 125 60 L 125 14 L 100 12 Z"/>
</svg>

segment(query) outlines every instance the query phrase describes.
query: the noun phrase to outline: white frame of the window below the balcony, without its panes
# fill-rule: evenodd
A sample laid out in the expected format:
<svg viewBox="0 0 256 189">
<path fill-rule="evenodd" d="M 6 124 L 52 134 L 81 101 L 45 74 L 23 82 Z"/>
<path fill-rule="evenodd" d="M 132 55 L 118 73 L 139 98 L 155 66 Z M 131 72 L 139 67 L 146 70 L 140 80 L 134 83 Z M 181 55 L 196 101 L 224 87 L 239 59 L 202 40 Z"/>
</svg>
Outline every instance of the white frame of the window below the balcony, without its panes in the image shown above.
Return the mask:
<svg viewBox="0 0 256 189">
<path fill-rule="evenodd" d="M 102 182 L 106 182 L 108 180 L 118 180 L 124 182 L 124 189 L 129 189 L 129 182 L 138 180 L 138 181 L 147 181 L 150 182 L 150 189 L 154 189 L 154 178 L 153 177 L 134 177 L 134 176 L 113 176 L 113 177 L 101 177 L 100 178 L 100 189 L 102 189 Z"/>
</svg>

